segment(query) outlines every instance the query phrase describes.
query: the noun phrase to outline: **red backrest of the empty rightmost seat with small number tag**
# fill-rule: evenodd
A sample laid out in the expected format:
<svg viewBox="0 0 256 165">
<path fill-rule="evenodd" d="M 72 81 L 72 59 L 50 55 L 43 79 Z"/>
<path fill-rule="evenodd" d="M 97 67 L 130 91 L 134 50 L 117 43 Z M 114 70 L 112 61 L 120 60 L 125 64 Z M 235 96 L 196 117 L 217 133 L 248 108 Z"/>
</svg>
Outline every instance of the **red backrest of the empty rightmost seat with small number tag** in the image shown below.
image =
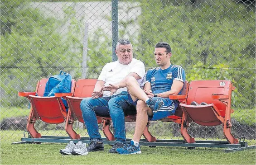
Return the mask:
<svg viewBox="0 0 256 165">
<path fill-rule="evenodd" d="M 213 99 L 212 94 L 229 95 L 229 97 L 231 97 L 231 92 L 232 83 L 229 80 L 191 81 L 186 104 L 190 105 L 193 101 L 197 102 L 198 104 L 202 102 L 214 104 L 221 113 L 221 116 L 225 117 L 227 106 L 218 99 Z"/>
</svg>

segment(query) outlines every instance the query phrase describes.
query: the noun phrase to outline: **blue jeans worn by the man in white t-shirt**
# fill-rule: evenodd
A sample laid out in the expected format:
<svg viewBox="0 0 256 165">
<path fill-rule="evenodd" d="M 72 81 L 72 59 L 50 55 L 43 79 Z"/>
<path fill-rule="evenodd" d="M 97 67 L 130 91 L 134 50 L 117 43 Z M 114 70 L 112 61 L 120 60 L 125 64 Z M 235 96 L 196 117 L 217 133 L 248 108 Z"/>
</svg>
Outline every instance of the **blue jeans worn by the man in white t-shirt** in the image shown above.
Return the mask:
<svg viewBox="0 0 256 165">
<path fill-rule="evenodd" d="M 82 118 L 90 140 L 102 141 L 97 116 L 111 117 L 116 141 L 126 142 L 125 116 L 136 114 L 136 107 L 128 101 L 128 92 L 98 99 L 84 98 L 80 104 Z"/>
</svg>

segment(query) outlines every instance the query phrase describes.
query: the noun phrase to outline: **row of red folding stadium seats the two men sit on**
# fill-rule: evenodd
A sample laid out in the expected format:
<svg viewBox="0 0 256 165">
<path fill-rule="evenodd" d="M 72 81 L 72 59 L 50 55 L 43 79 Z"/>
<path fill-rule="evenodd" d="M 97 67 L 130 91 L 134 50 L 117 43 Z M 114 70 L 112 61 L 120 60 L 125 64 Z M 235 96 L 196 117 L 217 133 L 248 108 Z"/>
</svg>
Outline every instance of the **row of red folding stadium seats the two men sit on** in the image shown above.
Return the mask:
<svg viewBox="0 0 256 165">
<path fill-rule="evenodd" d="M 32 105 L 29 113 L 27 131 L 34 138 L 40 138 L 41 134 L 35 129 L 36 120 L 45 123 L 66 123 L 65 129 L 72 139 L 80 139 L 72 127 L 74 121 L 84 123 L 80 103 L 83 98 L 90 97 L 97 79 L 72 80 L 71 93 L 56 93 L 52 97 L 43 97 L 43 92 L 48 79 L 38 81 L 35 92 L 19 92 L 19 96 L 27 97 Z M 223 133 L 230 144 L 237 144 L 238 139 L 231 134 L 230 114 L 231 94 L 235 87 L 229 80 L 197 80 L 185 81 L 181 95 L 169 95 L 169 99 L 179 100 L 179 107 L 172 116 L 161 119 L 163 122 L 175 122 L 181 125 L 181 135 L 187 143 L 195 140 L 188 134 L 189 123 L 195 122 L 203 126 L 223 125 Z M 68 112 L 62 99 L 68 101 Z M 207 105 L 190 105 L 193 101 L 205 102 Z M 111 118 L 97 117 L 98 123 L 102 123 L 102 131 L 107 140 L 114 141 L 114 135 L 109 129 Z M 133 115 L 126 116 L 126 122 L 135 122 Z M 156 138 L 145 128 L 143 136 L 147 141 L 156 141 Z"/>
</svg>

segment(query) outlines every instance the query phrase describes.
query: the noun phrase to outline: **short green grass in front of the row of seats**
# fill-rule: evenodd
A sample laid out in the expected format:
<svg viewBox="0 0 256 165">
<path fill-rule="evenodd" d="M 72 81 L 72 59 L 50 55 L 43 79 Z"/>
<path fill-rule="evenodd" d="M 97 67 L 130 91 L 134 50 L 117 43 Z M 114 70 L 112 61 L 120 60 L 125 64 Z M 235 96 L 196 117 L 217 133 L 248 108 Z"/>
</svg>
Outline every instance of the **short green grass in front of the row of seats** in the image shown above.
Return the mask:
<svg viewBox="0 0 256 165">
<path fill-rule="evenodd" d="M 1 131 L 1 160 L 0 164 L 179 164 L 179 165 L 255 165 L 256 151 L 254 149 L 225 153 L 223 149 L 196 148 L 188 150 L 186 147 L 156 147 L 141 146 L 141 154 L 118 155 L 109 154 L 111 148 L 105 145 L 105 151 L 90 152 L 87 156 L 63 156 L 59 150 L 65 148 L 63 143 L 17 144 L 20 141 L 20 131 Z M 251 145 L 255 141 L 251 141 Z"/>
</svg>

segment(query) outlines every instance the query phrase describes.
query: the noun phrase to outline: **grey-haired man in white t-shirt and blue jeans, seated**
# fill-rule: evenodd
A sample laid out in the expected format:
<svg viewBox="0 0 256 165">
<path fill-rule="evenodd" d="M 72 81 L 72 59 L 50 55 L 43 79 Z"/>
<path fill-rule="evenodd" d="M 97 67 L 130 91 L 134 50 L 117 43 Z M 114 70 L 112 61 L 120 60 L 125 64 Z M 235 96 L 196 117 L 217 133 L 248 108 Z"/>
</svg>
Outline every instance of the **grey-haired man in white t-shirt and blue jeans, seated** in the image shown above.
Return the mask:
<svg viewBox="0 0 256 165">
<path fill-rule="evenodd" d="M 125 78 L 133 76 L 142 86 L 145 76 L 143 62 L 133 58 L 132 51 L 132 44 L 129 40 L 121 39 L 117 42 L 118 61 L 107 63 L 103 67 L 92 97 L 83 99 L 80 104 L 91 141 L 87 146 L 88 151 L 104 150 L 96 115 L 112 119 L 116 143 L 109 150 L 110 153 L 116 153 L 116 148 L 124 146 L 126 142 L 125 116 L 136 114 L 136 107 L 128 101 Z M 119 86 L 115 93 L 104 90 L 104 87 L 113 84 Z M 102 97 L 100 97 L 101 94 L 103 94 Z"/>
</svg>

